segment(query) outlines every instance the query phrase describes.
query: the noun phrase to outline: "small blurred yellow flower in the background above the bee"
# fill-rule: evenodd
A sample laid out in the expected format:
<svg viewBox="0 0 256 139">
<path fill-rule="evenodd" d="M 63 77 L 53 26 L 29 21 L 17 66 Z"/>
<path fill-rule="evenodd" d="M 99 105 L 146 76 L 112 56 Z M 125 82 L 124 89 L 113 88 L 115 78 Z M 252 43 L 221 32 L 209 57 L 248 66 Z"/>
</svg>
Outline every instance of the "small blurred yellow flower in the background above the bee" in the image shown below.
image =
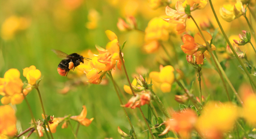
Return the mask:
<svg viewBox="0 0 256 139">
<path fill-rule="evenodd" d="M 88 22 L 86 23 L 86 27 L 88 29 L 96 29 L 98 26 L 99 18 L 100 15 L 96 10 L 89 10 Z"/>
</svg>

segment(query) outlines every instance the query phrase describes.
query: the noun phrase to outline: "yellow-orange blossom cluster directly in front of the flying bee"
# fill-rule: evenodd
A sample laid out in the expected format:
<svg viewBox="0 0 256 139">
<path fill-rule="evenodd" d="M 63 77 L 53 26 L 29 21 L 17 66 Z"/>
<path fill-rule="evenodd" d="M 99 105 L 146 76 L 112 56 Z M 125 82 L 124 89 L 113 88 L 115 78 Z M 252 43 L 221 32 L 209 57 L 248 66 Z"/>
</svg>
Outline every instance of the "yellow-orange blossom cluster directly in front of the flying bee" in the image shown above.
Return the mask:
<svg viewBox="0 0 256 139">
<path fill-rule="evenodd" d="M 120 46 L 115 33 L 110 30 L 105 31 L 111 42 L 107 43 L 106 49 L 96 46 L 99 51 L 98 55 L 94 55 L 87 65 L 80 65 L 78 69 L 83 71 L 91 84 L 100 84 L 105 78 L 105 73 L 109 70 L 117 68 L 121 70 Z"/>
</svg>

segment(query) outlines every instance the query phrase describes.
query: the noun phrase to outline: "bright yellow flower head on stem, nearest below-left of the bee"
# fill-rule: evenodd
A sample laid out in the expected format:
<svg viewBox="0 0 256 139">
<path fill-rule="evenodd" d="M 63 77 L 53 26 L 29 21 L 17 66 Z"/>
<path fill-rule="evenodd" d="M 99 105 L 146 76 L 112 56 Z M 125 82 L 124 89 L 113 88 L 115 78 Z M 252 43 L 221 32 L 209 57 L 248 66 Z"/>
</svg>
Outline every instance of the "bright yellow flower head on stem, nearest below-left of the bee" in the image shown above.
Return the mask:
<svg viewBox="0 0 256 139">
<path fill-rule="evenodd" d="M 30 66 L 23 69 L 23 76 L 27 78 L 27 82 L 30 85 L 35 85 L 37 80 L 41 77 L 40 70 L 36 69 L 36 66 Z"/>
</svg>

